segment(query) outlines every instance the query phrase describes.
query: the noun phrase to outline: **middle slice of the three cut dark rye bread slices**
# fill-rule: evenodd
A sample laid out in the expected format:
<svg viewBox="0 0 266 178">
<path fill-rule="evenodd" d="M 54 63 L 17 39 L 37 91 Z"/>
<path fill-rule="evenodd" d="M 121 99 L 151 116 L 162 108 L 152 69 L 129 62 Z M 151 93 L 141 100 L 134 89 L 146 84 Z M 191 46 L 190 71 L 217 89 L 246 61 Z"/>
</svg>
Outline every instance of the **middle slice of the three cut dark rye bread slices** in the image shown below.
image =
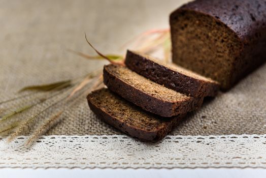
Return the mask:
<svg viewBox="0 0 266 178">
<path fill-rule="evenodd" d="M 131 103 L 164 117 L 187 113 L 203 103 L 202 97 L 188 97 L 119 65 L 104 67 L 104 83 Z"/>
</svg>

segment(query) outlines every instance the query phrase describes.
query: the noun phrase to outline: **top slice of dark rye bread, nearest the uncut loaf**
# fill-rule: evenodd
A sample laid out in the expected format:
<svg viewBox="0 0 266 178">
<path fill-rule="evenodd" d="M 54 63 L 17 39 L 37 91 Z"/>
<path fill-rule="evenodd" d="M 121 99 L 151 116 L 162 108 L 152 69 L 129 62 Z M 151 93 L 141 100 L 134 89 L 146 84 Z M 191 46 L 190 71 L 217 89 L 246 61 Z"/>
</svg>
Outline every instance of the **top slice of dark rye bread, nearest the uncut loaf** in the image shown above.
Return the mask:
<svg viewBox="0 0 266 178">
<path fill-rule="evenodd" d="M 214 80 L 138 52 L 127 50 L 125 65 L 156 83 L 191 97 L 214 97 L 219 90 L 219 84 Z"/>
</svg>

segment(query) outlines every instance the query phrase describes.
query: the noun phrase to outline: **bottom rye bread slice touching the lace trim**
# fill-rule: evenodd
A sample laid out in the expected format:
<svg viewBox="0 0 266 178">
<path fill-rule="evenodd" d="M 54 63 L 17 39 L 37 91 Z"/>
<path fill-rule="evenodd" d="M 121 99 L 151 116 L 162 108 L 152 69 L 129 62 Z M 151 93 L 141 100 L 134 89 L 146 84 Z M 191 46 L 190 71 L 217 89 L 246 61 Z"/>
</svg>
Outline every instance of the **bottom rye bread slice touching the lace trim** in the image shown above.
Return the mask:
<svg viewBox="0 0 266 178">
<path fill-rule="evenodd" d="M 104 122 L 141 140 L 162 139 L 184 117 L 165 118 L 148 113 L 107 88 L 90 93 L 87 100 L 90 109 Z"/>
</svg>

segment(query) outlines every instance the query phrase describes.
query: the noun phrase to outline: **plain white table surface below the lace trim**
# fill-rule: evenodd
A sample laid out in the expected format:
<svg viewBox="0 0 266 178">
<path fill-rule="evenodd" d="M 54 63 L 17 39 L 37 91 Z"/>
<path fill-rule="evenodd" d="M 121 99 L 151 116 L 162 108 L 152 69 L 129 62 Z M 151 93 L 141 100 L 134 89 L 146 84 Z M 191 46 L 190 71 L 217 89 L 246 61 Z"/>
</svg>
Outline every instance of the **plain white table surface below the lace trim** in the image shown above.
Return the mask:
<svg viewBox="0 0 266 178">
<path fill-rule="evenodd" d="M 196 169 L 0 169 L 0 177 L 266 177 L 266 169 L 262 168 L 196 168 Z"/>
</svg>

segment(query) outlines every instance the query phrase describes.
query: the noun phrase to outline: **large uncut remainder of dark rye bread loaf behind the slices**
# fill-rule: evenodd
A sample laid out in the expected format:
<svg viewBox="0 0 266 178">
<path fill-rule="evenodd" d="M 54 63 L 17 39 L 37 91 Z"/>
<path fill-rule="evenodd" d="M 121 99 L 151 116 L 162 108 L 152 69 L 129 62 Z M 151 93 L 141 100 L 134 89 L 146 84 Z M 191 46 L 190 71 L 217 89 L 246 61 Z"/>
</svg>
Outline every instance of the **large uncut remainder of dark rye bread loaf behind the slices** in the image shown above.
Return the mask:
<svg viewBox="0 0 266 178">
<path fill-rule="evenodd" d="M 227 90 L 266 61 L 265 0 L 197 0 L 170 16 L 173 62 Z"/>
</svg>

